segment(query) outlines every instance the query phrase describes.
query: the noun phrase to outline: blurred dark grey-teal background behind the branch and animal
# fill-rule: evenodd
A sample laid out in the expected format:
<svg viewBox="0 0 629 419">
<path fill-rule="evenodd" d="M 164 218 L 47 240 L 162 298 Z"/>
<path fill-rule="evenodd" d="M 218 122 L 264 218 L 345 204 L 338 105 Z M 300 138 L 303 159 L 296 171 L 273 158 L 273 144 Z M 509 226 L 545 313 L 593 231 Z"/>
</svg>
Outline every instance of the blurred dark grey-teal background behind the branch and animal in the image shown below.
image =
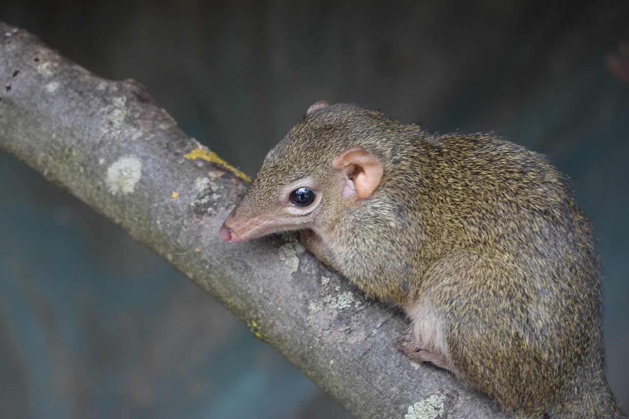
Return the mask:
<svg viewBox="0 0 629 419">
<path fill-rule="evenodd" d="M 140 81 L 252 176 L 320 99 L 546 153 L 597 228 L 608 377 L 629 410 L 629 2 L 9 0 L 0 20 Z M 0 416 L 348 417 L 192 282 L 1 150 Z"/>
</svg>

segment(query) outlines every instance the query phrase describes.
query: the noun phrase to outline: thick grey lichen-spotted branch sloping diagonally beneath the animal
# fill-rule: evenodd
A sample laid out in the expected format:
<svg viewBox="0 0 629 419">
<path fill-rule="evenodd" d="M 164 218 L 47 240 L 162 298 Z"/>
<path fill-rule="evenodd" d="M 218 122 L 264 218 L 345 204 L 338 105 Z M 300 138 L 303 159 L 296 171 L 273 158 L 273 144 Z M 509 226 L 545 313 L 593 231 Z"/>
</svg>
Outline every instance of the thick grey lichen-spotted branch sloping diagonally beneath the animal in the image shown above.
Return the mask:
<svg viewBox="0 0 629 419">
<path fill-rule="evenodd" d="M 0 83 L 0 147 L 169 261 L 352 415 L 403 418 L 415 406 L 409 417 L 507 417 L 447 372 L 406 359 L 395 349 L 403 316 L 299 243 L 221 242 L 247 181 L 138 82 L 96 77 L 0 22 Z"/>
</svg>

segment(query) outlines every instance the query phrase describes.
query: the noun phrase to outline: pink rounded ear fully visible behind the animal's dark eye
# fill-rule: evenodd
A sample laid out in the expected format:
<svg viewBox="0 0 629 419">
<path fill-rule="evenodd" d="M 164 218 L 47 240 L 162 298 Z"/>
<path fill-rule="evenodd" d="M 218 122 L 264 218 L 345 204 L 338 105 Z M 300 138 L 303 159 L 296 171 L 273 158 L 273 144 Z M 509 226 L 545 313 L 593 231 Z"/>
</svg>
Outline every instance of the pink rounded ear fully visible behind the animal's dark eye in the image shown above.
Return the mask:
<svg viewBox="0 0 629 419">
<path fill-rule="evenodd" d="M 334 169 L 342 180 L 343 196 L 355 194 L 369 198 L 382 180 L 382 163 L 362 147 L 348 148 L 334 160 Z"/>
</svg>

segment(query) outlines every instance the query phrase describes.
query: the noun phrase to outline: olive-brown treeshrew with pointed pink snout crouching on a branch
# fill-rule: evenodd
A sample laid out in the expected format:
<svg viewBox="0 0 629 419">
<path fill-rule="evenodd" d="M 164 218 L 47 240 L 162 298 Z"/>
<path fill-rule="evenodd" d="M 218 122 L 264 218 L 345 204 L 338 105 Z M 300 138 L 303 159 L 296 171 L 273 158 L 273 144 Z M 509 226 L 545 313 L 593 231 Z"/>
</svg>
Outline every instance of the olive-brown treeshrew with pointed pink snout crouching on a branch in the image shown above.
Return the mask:
<svg viewBox="0 0 629 419">
<path fill-rule="evenodd" d="M 284 231 L 411 320 L 399 347 L 509 412 L 617 418 L 604 376 L 592 227 L 536 152 L 313 104 L 220 229 Z"/>
</svg>

